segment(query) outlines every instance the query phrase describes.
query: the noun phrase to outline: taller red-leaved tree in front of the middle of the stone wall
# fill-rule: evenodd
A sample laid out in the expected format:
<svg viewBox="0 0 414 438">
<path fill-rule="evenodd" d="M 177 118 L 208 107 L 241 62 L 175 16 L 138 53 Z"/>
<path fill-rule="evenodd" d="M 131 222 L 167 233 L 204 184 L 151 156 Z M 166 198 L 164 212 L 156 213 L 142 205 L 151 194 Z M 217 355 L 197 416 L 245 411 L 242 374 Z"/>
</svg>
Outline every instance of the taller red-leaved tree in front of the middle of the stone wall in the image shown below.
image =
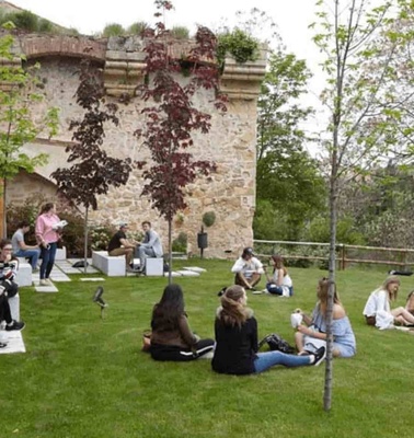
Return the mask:
<svg viewBox="0 0 414 438">
<path fill-rule="evenodd" d="M 172 9 L 172 3 L 156 0 L 159 12 Z M 217 38 L 207 27 L 199 26 L 194 45 L 183 59 L 171 55 L 172 38 L 164 24 L 158 22 L 154 28 L 145 31 L 146 73 L 149 82 L 140 90 L 148 102 L 141 114 L 146 117 L 145 129 L 136 130 L 143 138 L 152 162 L 139 162 L 143 170 L 145 185 L 142 195 L 150 198 L 156 208 L 169 223 L 169 283 L 172 269 L 172 220 L 174 215 L 186 208 L 185 187 L 198 175 L 207 176 L 216 170 L 211 161 L 195 160 L 189 152 L 193 146 L 192 132 L 208 134 L 211 115 L 198 111 L 193 96 L 199 89 L 211 91 L 212 107 L 226 112 L 227 97 L 218 93 L 219 71 L 215 64 Z M 186 84 L 181 85 L 177 74 L 182 62 L 189 66 L 191 74 Z"/>
</svg>

